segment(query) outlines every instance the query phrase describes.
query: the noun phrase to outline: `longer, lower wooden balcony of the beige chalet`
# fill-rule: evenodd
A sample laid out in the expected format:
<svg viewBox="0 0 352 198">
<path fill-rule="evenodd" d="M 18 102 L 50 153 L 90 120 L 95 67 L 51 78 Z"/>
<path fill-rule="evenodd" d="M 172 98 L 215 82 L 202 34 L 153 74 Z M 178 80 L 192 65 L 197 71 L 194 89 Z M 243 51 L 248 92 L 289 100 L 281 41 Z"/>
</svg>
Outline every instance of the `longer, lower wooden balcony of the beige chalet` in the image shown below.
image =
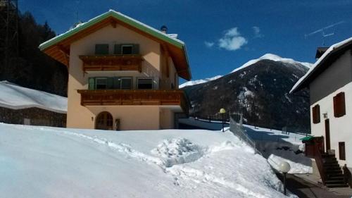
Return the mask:
<svg viewBox="0 0 352 198">
<path fill-rule="evenodd" d="M 188 113 L 188 102 L 182 90 L 77 90 L 82 106 L 161 105 L 181 106 Z"/>
</svg>

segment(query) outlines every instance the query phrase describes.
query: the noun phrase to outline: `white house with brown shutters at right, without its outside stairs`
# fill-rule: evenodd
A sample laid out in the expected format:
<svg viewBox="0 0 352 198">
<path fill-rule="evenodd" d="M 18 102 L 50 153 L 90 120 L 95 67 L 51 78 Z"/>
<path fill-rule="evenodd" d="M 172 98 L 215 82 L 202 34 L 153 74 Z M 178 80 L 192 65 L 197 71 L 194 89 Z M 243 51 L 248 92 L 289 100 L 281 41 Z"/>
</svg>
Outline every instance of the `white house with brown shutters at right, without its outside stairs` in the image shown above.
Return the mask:
<svg viewBox="0 0 352 198">
<path fill-rule="evenodd" d="M 352 172 L 352 37 L 324 50 L 291 93 L 309 89 L 312 135 L 323 137 L 322 149 Z"/>
</svg>

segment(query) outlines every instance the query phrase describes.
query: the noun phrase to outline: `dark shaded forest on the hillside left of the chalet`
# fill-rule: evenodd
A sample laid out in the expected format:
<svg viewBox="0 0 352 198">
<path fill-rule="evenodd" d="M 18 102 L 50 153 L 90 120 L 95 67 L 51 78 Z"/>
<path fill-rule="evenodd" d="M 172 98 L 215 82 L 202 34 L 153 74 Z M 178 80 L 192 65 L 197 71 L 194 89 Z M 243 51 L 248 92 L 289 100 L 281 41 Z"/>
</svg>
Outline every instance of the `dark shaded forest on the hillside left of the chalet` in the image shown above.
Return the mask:
<svg viewBox="0 0 352 198">
<path fill-rule="evenodd" d="M 8 12 L 0 5 L 0 80 L 66 97 L 66 66 L 38 48 L 56 33 L 47 22 L 38 24 L 30 12 Z"/>
</svg>

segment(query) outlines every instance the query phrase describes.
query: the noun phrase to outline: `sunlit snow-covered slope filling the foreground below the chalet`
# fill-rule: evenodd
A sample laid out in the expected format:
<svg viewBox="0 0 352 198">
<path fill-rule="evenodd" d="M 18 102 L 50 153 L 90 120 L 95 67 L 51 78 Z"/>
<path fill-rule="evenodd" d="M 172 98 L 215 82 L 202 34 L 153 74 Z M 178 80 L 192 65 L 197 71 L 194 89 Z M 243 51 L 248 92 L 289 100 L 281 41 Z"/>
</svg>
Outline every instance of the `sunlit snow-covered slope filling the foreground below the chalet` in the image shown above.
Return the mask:
<svg viewBox="0 0 352 198">
<path fill-rule="evenodd" d="M 1 123 L 0 178 L 1 197 L 284 197 L 266 159 L 208 130 Z"/>
</svg>

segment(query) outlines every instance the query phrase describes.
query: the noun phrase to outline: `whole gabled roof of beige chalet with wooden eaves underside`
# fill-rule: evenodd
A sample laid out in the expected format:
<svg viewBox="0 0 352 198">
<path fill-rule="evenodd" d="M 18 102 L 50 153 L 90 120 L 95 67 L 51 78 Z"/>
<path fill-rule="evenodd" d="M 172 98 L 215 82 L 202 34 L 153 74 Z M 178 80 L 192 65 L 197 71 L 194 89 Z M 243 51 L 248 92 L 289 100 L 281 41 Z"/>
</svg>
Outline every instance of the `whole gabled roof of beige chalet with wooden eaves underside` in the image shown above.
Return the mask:
<svg viewBox="0 0 352 198">
<path fill-rule="evenodd" d="M 70 54 L 70 44 L 72 42 L 75 42 L 77 39 L 85 37 L 102 27 L 115 24 L 123 25 L 165 45 L 170 51 L 170 56 L 175 63 L 177 73 L 180 77 L 186 80 L 191 79 L 187 50 L 184 42 L 172 35 L 165 34 L 149 25 L 141 23 L 138 20 L 134 20 L 133 18 L 114 10 L 96 16 L 95 18 L 88 20 L 86 23 L 81 23 L 75 28 L 43 42 L 39 45 L 39 49 L 52 58 L 55 58 L 57 61 L 60 61 L 65 66 L 68 66 L 68 54 Z"/>
</svg>

